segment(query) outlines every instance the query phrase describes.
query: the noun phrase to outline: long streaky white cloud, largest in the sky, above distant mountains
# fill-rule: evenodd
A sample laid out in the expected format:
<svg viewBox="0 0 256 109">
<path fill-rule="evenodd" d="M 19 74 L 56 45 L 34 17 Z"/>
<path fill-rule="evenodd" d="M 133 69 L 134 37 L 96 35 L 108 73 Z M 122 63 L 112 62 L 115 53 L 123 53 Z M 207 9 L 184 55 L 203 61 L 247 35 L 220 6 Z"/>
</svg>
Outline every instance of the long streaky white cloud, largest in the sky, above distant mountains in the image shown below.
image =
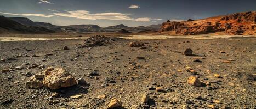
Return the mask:
<svg viewBox="0 0 256 109">
<path fill-rule="evenodd" d="M 152 19 L 149 17 L 144 18 L 132 18 L 128 15 L 130 14 L 123 14 L 123 13 L 96 13 L 91 14 L 87 10 L 66 10 L 65 13 L 53 13 L 56 16 L 62 17 L 73 17 L 77 19 L 88 19 L 88 20 L 129 20 L 129 21 L 143 21 L 143 22 L 150 22 L 151 20 L 162 20 L 162 19 Z"/>
</svg>

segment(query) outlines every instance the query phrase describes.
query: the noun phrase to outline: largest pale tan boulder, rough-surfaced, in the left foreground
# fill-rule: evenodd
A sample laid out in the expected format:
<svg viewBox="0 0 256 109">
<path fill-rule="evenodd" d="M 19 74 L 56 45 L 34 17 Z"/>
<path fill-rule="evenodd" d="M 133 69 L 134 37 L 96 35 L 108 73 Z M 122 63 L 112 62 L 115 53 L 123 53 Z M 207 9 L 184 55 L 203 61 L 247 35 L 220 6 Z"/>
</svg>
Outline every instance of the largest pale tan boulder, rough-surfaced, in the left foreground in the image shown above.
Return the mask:
<svg viewBox="0 0 256 109">
<path fill-rule="evenodd" d="M 62 68 L 47 68 L 43 84 L 50 89 L 71 87 L 77 84 L 75 78 Z"/>
</svg>

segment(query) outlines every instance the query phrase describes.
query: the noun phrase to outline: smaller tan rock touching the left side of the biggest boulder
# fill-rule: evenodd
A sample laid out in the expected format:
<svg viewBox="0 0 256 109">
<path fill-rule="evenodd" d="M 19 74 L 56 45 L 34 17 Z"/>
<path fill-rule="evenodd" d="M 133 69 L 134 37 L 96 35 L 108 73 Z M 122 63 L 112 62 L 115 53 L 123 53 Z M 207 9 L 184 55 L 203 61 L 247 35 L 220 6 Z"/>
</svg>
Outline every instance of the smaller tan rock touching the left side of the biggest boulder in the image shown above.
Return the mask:
<svg viewBox="0 0 256 109">
<path fill-rule="evenodd" d="M 43 79 L 36 78 L 32 76 L 29 81 L 26 82 L 26 86 L 29 88 L 42 88 L 43 87 Z"/>
</svg>

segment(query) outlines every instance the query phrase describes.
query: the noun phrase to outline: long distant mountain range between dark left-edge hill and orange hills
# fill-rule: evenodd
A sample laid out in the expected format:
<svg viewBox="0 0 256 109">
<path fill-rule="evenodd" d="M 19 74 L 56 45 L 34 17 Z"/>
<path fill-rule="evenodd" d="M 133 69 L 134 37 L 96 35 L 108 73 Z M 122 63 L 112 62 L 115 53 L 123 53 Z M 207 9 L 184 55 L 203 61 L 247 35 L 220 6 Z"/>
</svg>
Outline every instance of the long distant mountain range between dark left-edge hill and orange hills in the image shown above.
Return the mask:
<svg viewBox="0 0 256 109">
<path fill-rule="evenodd" d="M 6 17 L 5 17 L 6 18 Z M 51 23 L 45 22 L 34 22 L 26 17 L 9 17 L 6 18 L 17 23 L 20 25 L 24 25 L 26 27 L 43 27 L 52 31 L 62 31 L 62 32 L 118 32 L 121 29 L 125 29 L 130 32 L 140 32 L 140 31 L 158 31 L 161 29 L 161 24 L 159 25 L 150 25 L 150 26 L 139 26 L 139 27 L 128 27 L 123 24 L 116 25 L 116 26 L 109 26 L 109 27 L 100 27 L 98 25 L 70 25 L 70 26 L 56 26 L 52 25 Z"/>
</svg>

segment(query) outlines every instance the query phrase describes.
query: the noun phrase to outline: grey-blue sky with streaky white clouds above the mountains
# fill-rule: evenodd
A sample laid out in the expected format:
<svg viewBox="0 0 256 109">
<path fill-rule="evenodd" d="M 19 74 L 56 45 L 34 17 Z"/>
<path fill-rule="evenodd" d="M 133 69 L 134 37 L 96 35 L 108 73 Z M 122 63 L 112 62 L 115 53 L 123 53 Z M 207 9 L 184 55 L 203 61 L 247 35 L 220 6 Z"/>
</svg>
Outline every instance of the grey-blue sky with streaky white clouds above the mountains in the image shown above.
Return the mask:
<svg viewBox="0 0 256 109">
<path fill-rule="evenodd" d="M 130 27 L 256 11 L 256 0 L 0 0 L 0 15 L 53 25 Z"/>
</svg>

